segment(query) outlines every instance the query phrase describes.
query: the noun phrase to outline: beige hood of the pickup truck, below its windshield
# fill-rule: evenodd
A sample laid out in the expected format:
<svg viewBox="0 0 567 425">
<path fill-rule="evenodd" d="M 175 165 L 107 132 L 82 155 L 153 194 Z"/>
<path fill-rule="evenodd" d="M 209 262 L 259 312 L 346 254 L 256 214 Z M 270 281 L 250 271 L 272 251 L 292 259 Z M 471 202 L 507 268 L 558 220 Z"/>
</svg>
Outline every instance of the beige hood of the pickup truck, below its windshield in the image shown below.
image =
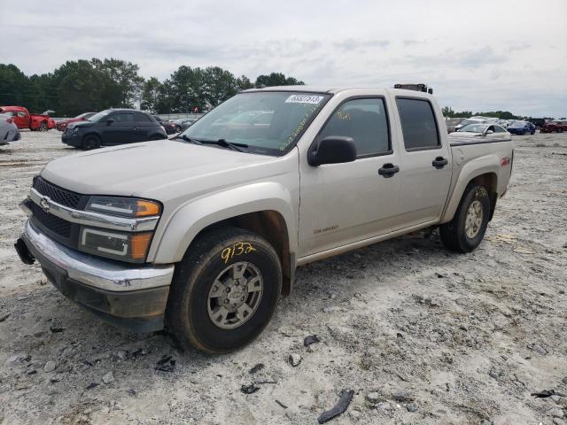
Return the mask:
<svg viewBox="0 0 567 425">
<path fill-rule="evenodd" d="M 120 145 L 55 159 L 44 179 L 87 195 L 119 195 L 166 202 L 281 174 L 286 157 L 268 157 L 173 140 Z M 296 161 L 297 166 L 297 161 Z M 177 187 L 183 189 L 176 189 Z"/>
</svg>

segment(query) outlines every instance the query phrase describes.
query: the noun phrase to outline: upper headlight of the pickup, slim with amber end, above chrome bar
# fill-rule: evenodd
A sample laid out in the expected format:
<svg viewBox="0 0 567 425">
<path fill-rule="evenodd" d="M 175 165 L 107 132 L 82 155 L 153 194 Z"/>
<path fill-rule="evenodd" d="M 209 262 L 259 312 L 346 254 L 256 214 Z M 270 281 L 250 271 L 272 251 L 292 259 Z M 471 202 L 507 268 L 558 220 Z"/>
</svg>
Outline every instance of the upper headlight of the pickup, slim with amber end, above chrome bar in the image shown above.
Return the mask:
<svg viewBox="0 0 567 425">
<path fill-rule="evenodd" d="M 157 202 L 135 197 L 90 197 L 87 210 L 120 217 L 147 217 L 159 215 L 161 207 Z"/>
</svg>

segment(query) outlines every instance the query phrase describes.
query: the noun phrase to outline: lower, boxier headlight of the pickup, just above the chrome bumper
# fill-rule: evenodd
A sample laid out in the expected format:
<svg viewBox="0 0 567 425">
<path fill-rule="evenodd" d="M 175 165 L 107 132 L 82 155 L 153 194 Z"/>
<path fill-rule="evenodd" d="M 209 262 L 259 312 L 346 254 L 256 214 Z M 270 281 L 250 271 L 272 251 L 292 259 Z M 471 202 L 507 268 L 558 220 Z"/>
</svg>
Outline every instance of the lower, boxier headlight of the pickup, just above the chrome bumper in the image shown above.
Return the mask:
<svg viewBox="0 0 567 425">
<path fill-rule="evenodd" d="M 153 233 L 123 233 L 103 228 L 81 228 L 79 249 L 101 257 L 134 263 L 145 261 Z"/>
</svg>

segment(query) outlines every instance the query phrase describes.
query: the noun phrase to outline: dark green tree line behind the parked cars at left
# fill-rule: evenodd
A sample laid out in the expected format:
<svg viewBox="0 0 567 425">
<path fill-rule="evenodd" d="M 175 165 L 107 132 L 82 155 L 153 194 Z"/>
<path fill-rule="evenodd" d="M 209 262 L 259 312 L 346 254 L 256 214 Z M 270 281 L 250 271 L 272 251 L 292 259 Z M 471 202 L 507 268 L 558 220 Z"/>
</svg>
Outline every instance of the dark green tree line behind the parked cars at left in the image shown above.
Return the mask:
<svg viewBox="0 0 567 425">
<path fill-rule="evenodd" d="M 259 75 L 252 82 L 219 66 L 179 66 L 165 81 L 146 80 L 139 66 L 115 58 L 67 61 L 52 73 L 29 76 L 18 66 L 0 64 L 0 105 L 26 106 L 31 112 L 52 110 L 56 116 L 138 106 L 154 113 L 176 113 L 195 107 L 203 111 L 245 89 L 302 84 L 283 73 Z"/>
</svg>

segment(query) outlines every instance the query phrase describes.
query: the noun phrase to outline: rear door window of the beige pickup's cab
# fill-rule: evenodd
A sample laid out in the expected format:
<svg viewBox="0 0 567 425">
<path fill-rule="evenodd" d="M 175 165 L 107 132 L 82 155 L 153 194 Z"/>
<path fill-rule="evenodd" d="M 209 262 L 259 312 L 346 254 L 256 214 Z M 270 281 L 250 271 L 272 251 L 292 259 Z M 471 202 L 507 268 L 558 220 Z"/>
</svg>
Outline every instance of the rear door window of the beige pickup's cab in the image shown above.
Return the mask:
<svg viewBox="0 0 567 425">
<path fill-rule="evenodd" d="M 403 97 L 398 97 L 396 103 L 406 151 L 437 148 L 439 133 L 431 104 L 427 100 Z"/>
</svg>

